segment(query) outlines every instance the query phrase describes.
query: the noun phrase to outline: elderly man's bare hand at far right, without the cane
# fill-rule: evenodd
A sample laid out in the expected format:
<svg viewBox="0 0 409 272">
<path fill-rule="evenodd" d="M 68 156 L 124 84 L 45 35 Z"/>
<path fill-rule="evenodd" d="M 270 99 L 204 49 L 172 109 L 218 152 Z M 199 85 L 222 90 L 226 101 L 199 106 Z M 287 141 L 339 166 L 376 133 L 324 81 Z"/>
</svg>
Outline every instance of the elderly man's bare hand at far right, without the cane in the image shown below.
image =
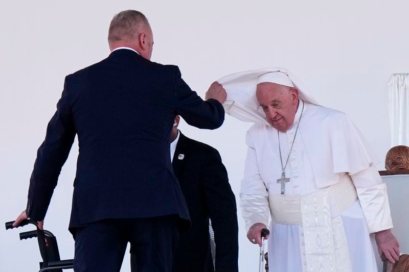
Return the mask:
<svg viewBox="0 0 409 272">
<path fill-rule="evenodd" d="M 385 255 L 391 263 L 399 260 L 399 242 L 390 229 L 376 232 L 375 241 L 379 256 Z"/>
</svg>

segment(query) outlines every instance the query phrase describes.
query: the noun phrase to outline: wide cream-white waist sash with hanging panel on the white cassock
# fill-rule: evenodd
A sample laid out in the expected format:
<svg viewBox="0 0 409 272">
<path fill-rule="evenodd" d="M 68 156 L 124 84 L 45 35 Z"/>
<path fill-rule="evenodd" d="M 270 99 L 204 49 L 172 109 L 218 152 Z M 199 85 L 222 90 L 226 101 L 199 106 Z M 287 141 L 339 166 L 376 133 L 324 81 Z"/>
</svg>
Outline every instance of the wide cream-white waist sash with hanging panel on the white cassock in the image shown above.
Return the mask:
<svg viewBox="0 0 409 272">
<path fill-rule="evenodd" d="M 269 195 L 273 224 L 300 226 L 303 271 L 352 272 L 340 213 L 358 199 L 349 175 L 323 190 L 302 196 Z"/>
</svg>

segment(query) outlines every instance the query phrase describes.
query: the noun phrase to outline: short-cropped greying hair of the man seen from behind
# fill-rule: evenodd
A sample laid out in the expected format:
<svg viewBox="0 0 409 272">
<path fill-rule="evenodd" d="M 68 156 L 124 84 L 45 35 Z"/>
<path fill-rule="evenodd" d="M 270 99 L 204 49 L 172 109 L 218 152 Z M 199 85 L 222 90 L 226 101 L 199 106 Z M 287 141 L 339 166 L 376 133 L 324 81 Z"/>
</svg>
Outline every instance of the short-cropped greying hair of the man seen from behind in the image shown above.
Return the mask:
<svg viewBox="0 0 409 272">
<path fill-rule="evenodd" d="M 124 10 L 113 16 L 109 24 L 108 42 L 131 40 L 142 27 L 149 27 L 145 15 L 136 10 Z"/>
</svg>

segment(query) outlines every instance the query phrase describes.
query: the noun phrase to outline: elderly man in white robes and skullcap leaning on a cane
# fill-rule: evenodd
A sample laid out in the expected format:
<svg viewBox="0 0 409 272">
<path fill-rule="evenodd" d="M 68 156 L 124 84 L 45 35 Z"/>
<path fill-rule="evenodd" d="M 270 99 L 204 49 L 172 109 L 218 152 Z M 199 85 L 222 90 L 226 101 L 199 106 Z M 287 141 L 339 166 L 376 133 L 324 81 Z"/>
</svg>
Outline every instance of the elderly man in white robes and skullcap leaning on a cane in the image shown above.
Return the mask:
<svg viewBox="0 0 409 272">
<path fill-rule="evenodd" d="M 226 112 L 255 122 L 246 135 L 241 210 L 253 243 L 261 244 L 271 218 L 272 271 L 377 271 L 373 238 L 379 254 L 398 259 L 378 160 L 345 113 L 318 105 L 281 68 L 218 82 Z"/>
</svg>

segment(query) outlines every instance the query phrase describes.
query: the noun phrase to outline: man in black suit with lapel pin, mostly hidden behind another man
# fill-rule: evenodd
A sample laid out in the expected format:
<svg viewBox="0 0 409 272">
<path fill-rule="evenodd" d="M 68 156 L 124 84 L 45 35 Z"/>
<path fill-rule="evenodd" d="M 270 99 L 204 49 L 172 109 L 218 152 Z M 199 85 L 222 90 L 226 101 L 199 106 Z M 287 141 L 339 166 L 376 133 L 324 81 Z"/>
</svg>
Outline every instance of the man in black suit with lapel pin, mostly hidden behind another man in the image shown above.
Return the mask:
<svg viewBox="0 0 409 272">
<path fill-rule="evenodd" d="M 170 157 L 189 208 L 191 228 L 180 235 L 173 272 L 238 271 L 238 224 L 236 200 L 227 171 L 216 149 L 189 139 L 178 131 L 176 116 L 171 135 Z M 214 230 L 216 254 L 213 266 L 209 217 Z M 131 267 L 135 255 L 131 247 Z"/>
</svg>

